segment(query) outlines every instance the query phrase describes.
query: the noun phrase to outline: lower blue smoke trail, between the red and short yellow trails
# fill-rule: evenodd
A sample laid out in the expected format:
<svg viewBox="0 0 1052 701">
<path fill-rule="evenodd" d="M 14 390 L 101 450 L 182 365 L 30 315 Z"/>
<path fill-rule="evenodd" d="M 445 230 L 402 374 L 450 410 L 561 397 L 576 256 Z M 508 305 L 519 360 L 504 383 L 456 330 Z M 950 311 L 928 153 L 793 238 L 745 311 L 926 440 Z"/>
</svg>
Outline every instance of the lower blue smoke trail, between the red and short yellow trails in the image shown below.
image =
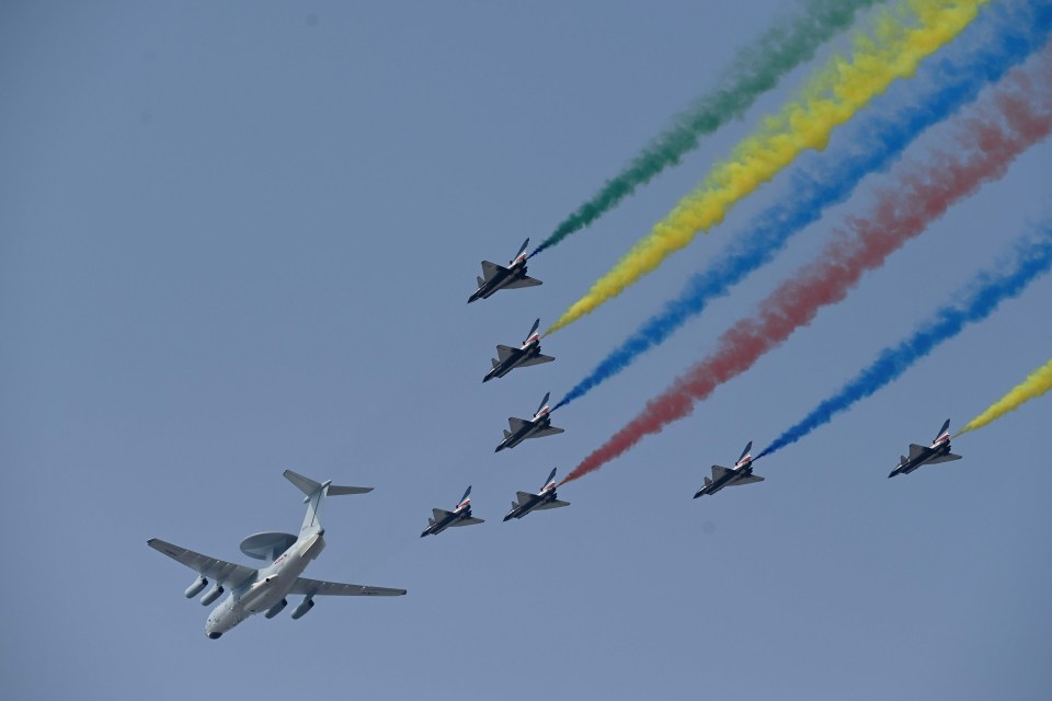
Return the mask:
<svg viewBox="0 0 1052 701">
<path fill-rule="evenodd" d="M 911 337 L 897 346 L 881 350 L 872 365 L 859 372 L 839 392 L 819 404 L 803 421 L 781 434 L 755 459 L 794 444 L 819 426 L 827 424 L 834 415 L 855 402 L 897 379 L 941 343 L 954 337 L 969 324 L 986 319 L 1004 300 L 1017 297 L 1034 278 L 1048 273 L 1050 267 L 1052 221 L 1045 221 L 1038 227 L 1033 235 L 1026 237 L 1016 244 L 1015 260 L 995 266 L 995 272 L 980 273 L 964 291 L 958 295 L 964 297 L 962 301 L 937 310 Z"/>
</svg>

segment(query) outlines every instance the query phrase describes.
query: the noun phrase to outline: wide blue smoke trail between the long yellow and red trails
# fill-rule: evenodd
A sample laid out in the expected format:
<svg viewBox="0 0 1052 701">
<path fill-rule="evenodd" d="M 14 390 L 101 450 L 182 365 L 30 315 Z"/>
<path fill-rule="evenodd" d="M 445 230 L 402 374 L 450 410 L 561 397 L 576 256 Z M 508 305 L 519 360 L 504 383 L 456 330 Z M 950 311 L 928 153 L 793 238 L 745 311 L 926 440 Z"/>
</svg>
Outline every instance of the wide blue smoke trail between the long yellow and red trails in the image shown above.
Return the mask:
<svg viewBox="0 0 1052 701">
<path fill-rule="evenodd" d="M 750 232 L 733 240 L 702 273 L 695 274 L 683 292 L 665 302 L 619 347 L 563 397 L 552 411 L 578 400 L 630 366 L 637 357 L 663 343 L 688 319 L 701 313 L 714 298 L 750 273 L 770 262 L 793 234 L 816 221 L 822 212 L 847 197 L 869 173 L 888 169 L 925 129 L 975 100 L 988 83 L 1040 48 L 1052 30 L 1052 4 L 1042 0 L 1005 2 L 962 34 L 963 43 L 981 44 L 960 58 L 944 57 L 926 65 L 922 80 L 934 89 L 893 114 L 873 115 L 859 124 L 849 152 L 827 154 L 816 174 L 798 171 L 782 202 L 757 216 Z"/>
</svg>

